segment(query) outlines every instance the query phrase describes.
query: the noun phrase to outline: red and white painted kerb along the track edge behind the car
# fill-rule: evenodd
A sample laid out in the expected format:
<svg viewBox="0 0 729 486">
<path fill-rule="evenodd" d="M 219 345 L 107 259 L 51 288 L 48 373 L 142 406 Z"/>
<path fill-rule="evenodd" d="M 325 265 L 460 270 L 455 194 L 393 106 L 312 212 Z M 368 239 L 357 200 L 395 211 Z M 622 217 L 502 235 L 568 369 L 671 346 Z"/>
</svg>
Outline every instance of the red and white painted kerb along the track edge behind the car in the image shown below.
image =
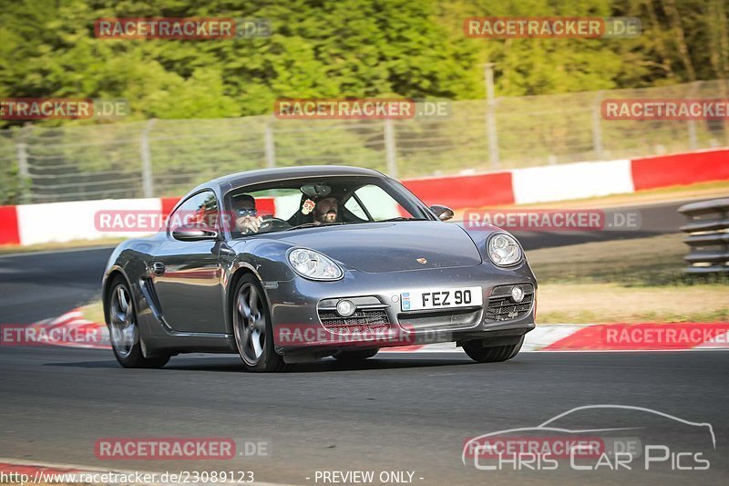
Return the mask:
<svg viewBox="0 0 729 486">
<path fill-rule="evenodd" d="M 74 309 L 29 326 L 38 342 L 54 346 L 109 349 L 108 328 Z M 679 351 L 729 349 L 729 322 L 538 325 L 522 351 Z M 454 343 L 385 348 L 392 353 L 461 353 Z"/>
</svg>

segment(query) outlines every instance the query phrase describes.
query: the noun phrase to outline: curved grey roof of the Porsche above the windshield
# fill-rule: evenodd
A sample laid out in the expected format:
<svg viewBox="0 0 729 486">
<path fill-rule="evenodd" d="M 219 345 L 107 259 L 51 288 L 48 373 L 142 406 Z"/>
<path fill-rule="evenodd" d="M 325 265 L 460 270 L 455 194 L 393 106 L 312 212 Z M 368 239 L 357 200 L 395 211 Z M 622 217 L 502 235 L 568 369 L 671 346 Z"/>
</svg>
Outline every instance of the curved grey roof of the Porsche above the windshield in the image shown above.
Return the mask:
<svg viewBox="0 0 729 486">
<path fill-rule="evenodd" d="M 306 165 L 295 167 L 277 167 L 274 169 L 259 169 L 257 171 L 237 172 L 234 174 L 219 177 L 212 181 L 200 184 L 190 191 L 196 192 L 202 189 L 218 189 L 227 192 L 241 186 L 258 184 L 261 182 L 282 181 L 286 179 L 299 179 L 302 177 L 336 177 L 336 176 L 375 176 L 386 177 L 385 174 L 364 167 L 350 167 L 344 165 Z"/>
</svg>

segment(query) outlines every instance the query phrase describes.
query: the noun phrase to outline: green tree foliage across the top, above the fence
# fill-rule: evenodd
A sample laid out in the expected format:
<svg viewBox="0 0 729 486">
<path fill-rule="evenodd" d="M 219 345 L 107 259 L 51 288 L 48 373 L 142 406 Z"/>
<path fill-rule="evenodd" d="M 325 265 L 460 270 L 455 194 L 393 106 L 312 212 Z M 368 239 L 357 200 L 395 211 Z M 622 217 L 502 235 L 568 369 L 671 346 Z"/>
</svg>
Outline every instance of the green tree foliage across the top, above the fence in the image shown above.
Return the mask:
<svg viewBox="0 0 729 486">
<path fill-rule="evenodd" d="M 279 97 L 483 97 L 639 88 L 729 71 L 721 0 L 3 0 L 0 96 L 127 98 L 132 119 L 270 113 Z M 99 17 L 266 18 L 272 36 L 109 40 Z M 637 16 L 633 39 L 473 39 L 467 16 Z M 46 123 L 53 123 L 47 122 Z M 57 122 L 56 122 L 57 123 Z"/>
</svg>

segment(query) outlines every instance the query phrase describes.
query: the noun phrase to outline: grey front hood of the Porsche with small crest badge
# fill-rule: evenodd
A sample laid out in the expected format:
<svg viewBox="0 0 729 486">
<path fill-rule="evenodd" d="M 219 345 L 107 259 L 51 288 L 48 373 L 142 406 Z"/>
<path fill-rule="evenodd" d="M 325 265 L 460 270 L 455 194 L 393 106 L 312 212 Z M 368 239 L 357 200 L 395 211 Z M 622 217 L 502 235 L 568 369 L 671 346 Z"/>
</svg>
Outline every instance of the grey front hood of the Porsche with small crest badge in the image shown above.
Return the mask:
<svg viewBox="0 0 729 486">
<path fill-rule="evenodd" d="M 481 264 L 473 240 L 457 225 L 445 222 L 357 223 L 275 234 L 279 241 L 311 248 L 368 273 Z"/>
</svg>

